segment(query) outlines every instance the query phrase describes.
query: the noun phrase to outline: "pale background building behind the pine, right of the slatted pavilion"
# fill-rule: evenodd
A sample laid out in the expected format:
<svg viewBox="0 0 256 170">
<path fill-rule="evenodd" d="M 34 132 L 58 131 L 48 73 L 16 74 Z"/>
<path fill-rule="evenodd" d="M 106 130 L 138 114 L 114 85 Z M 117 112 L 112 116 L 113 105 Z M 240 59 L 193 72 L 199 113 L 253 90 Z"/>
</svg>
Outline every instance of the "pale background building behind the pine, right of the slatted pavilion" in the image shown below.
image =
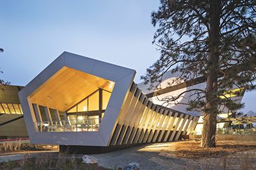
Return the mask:
<svg viewBox="0 0 256 170">
<path fill-rule="evenodd" d="M 193 92 L 186 92 L 193 88 L 204 90 L 206 88 L 206 79 L 204 77 L 197 77 L 196 79 L 188 80 L 184 82 L 180 79 L 179 82 L 173 83 L 173 80 L 180 77 L 179 72 L 172 73 L 171 71 L 166 72 L 162 77 L 161 84 L 158 85 L 158 89 L 149 90 L 149 84 L 138 84 L 138 87 L 142 89 L 143 93 L 148 96 L 149 100 L 157 105 L 163 105 L 164 107 L 169 107 L 178 111 L 182 111 L 185 114 L 192 116 L 198 116 L 199 121 L 197 127 L 194 130 L 194 134 L 201 135 L 203 129 L 203 114 L 199 111 L 187 111 L 187 105 L 189 100 L 193 100 L 196 96 L 192 95 Z M 236 95 L 236 91 L 242 91 L 240 96 Z M 171 98 L 171 96 L 176 97 L 181 95 L 175 103 L 166 102 L 166 99 Z M 243 99 L 244 91 L 234 87 L 231 91 L 227 91 L 225 96 L 220 96 L 220 98 L 231 98 L 237 103 L 240 103 Z M 192 96 L 192 97 L 190 97 Z M 227 109 L 227 107 L 220 106 L 221 112 L 218 114 L 217 123 L 217 134 L 256 134 L 256 114 L 253 111 L 250 113 L 236 115 L 234 118 L 232 116 L 232 111 Z M 236 111 L 239 112 L 239 111 Z"/>
</svg>

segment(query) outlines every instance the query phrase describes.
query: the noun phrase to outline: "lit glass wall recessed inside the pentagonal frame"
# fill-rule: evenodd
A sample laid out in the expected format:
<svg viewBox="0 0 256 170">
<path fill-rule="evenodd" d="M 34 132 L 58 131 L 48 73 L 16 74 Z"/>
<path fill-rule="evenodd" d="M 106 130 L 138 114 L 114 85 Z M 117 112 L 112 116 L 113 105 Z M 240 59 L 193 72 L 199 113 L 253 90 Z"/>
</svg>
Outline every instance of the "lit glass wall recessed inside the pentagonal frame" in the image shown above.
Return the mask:
<svg viewBox="0 0 256 170">
<path fill-rule="evenodd" d="M 52 123 L 45 120 L 47 117 L 44 108 L 39 106 L 43 122 L 36 122 L 38 130 L 39 132 L 98 131 L 110 98 L 111 92 L 103 89 L 94 91 L 66 111 L 67 120 L 64 118 L 63 112 L 58 111 L 62 123 L 55 121 L 54 116 L 52 116 Z M 50 112 L 52 115 L 51 109 Z"/>
</svg>

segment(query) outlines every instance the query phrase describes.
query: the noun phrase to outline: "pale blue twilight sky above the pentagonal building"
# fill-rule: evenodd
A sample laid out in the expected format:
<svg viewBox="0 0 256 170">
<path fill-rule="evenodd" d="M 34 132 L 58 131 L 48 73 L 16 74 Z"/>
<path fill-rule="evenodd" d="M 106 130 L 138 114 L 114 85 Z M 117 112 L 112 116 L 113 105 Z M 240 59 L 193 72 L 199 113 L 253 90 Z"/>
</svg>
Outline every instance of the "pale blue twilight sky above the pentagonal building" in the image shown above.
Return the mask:
<svg viewBox="0 0 256 170">
<path fill-rule="evenodd" d="M 1 1 L 2 79 L 24 86 L 62 52 L 73 52 L 136 70 L 135 82 L 159 57 L 152 45 L 150 13 L 156 0 Z M 256 91 L 246 93 L 246 110 Z"/>
</svg>

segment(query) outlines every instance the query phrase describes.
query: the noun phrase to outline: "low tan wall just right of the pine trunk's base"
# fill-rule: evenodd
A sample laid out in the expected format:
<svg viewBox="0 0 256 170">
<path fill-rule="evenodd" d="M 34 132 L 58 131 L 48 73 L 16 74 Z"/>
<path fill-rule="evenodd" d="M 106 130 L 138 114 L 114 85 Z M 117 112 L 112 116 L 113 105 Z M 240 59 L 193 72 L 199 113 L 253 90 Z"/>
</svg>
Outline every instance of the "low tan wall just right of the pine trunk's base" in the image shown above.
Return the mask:
<svg viewBox="0 0 256 170">
<path fill-rule="evenodd" d="M 256 134 L 218 134 L 218 141 L 256 141 Z"/>
</svg>

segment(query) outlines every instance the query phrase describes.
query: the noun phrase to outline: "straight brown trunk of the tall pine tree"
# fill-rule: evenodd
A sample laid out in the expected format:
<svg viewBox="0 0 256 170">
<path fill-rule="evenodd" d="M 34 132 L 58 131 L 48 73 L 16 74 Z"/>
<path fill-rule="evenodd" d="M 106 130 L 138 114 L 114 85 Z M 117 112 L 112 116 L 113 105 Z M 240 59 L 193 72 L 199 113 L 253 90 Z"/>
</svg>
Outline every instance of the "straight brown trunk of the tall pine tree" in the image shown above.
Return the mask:
<svg viewBox="0 0 256 170">
<path fill-rule="evenodd" d="M 215 132 L 218 114 L 218 71 L 220 45 L 220 11 L 221 1 L 209 1 L 210 30 L 209 31 L 209 58 L 207 63 L 206 105 L 204 109 L 204 125 L 201 136 L 201 147 L 215 147 Z"/>
</svg>

